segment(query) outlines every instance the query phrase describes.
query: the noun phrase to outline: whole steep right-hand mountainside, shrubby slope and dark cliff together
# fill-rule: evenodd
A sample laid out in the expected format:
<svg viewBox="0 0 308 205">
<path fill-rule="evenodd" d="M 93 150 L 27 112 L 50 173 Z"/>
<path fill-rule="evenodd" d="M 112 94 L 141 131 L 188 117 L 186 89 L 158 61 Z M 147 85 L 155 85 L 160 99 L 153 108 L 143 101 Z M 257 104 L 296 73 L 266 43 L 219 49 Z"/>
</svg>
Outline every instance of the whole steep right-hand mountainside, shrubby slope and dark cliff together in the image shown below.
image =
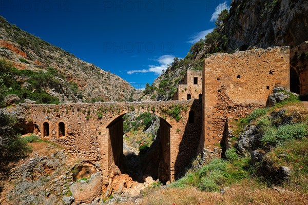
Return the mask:
<svg viewBox="0 0 308 205">
<path fill-rule="evenodd" d="M 202 70 L 203 59 L 210 54 L 232 53 L 250 46 L 293 48 L 308 39 L 308 2 L 305 0 L 234 0 L 230 6 L 229 12 L 219 15 L 214 31 L 192 45 L 185 58 L 175 59 L 147 86 L 140 99 L 172 99 L 186 70 Z"/>
</svg>

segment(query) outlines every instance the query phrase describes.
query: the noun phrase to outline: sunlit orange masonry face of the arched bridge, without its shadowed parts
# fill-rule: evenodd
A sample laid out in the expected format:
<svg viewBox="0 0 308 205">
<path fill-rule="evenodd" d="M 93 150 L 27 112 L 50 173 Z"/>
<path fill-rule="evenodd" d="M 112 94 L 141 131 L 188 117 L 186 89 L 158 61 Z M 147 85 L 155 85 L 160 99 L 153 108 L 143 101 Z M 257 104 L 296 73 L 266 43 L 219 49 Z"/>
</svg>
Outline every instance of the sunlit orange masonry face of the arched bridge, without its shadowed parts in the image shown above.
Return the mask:
<svg viewBox="0 0 308 205">
<path fill-rule="evenodd" d="M 64 147 L 72 155 L 92 162 L 99 161 L 104 183 L 108 183 L 114 160 L 108 126 L 117 118 L 130 111 L 144 111 L 156 114 L 170 125 L 170 179 L 175 178 L 175 164 L 178 160 L 180 145 L 189 150 L 190 142 L 183 144 L 185 132 L 196 132 L 195 127 L 186 127 L 188 113 L 194 100 L 132 102 L 132 103 L 94 103 L 62 105 L 26 105 L 28 121 L 32 121 L 41 138 Z M 180 109 L 181 118 L 177 121 L 168 111 Z M 195 108 L 194 108 L 195 109 Z M 201 110 L 201 106 L 200 106 Z M 49 136 L 43 136 L 43 124 L 49 124 Z M 59 123 L 65 124 L 65 136 L 59 137 Z M 200 127 L 202 124 L 200 124 Z M 123 128 L 122 128 L 123 129 Z M 198 142 L 197 142 L 198 143 Z M 121 146 L 123 149 L 123 147 Z M 190 153 L 189 153 L 190 154 Z M 187 153 L 181 153 L 187 156 Z M 189 156 L 190 157 L 190 156 Z M 183 165 L 184 166 L 184 165 Z"/>
</svg>

